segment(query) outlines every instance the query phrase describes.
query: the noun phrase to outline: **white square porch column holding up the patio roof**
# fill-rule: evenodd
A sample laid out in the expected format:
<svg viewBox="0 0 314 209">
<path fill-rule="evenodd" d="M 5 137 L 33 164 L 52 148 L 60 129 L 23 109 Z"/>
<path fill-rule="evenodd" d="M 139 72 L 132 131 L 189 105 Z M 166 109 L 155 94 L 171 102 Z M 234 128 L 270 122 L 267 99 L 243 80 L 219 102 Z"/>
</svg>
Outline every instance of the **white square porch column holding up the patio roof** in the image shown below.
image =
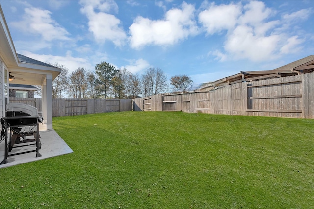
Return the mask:
<svg viewBox="0 0 314 209">
<path fill-rule="evenodd" d="M 46 124 L 47 129 L 52 129 L 52 75 L 46 75 L 41 94 L 44 124 Z"/>
</svg>

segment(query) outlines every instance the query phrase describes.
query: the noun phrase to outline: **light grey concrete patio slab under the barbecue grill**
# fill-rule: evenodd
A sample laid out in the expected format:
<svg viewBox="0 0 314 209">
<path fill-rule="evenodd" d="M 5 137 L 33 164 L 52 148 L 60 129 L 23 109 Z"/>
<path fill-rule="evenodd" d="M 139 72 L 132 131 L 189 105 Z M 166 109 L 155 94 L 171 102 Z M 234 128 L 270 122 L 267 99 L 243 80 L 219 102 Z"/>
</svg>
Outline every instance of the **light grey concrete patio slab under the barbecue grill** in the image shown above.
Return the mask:
<svg viewBox="0 0 314 209">
<path fill-rule="evenodd" d="M 36 152 L 30 152 L 21 155 L 9 156 L 8 163 L 0 165 L 0 168 L 10 167 L 22 163 L 39 161 L 59 155 L 72 153 L 72 149 L 64 142 L 64 140 L 53 130 L 47 130 L 45 125 L 39 126 L 41 149 L 39 153 L 41 157 L 36 158 Z M 35 150 L 36 145 L 13 148 L 9 154 Z M 0 162 L 4 159 L 4 141 L 0 142 Z"/>
</svg>

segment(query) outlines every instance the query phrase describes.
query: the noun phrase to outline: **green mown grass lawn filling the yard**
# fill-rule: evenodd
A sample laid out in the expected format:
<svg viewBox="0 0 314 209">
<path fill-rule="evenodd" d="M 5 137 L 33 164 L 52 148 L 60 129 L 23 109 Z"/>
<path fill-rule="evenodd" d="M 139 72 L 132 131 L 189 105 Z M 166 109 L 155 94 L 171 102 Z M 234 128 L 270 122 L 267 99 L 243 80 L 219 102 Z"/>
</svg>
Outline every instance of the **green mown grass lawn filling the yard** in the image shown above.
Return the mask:
<svg viewBox="0 0 314 209">
<path fill-rule="evenodd" d="M 314 120 L 53 118 L 74 153 L 0 169 L 0 208 L 314 208 Z"/>
</svg>

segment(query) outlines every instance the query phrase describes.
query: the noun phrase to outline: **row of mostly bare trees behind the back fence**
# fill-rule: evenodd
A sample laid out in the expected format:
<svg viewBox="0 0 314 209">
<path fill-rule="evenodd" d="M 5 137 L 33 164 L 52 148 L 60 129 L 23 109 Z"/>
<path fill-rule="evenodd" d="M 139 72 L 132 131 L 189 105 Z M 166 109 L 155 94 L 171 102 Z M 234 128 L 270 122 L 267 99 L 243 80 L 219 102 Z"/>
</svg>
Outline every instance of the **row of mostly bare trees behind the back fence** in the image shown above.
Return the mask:
<svg viewBox="0 0 314 209">
<path fill-rule="evenodd" d="M 187 75 L 175 75 L 170 82 L 160 68 L 148 68 L 141 75 L 115 68 L 107 62 L 95 66 L 95 72 L 78 67 L 73 72 L 59 63 L 61 69 L 52 82 L 53 98 L 138 98 L 158 93 L 186 93 L 193 86 Z"/>
</svg>

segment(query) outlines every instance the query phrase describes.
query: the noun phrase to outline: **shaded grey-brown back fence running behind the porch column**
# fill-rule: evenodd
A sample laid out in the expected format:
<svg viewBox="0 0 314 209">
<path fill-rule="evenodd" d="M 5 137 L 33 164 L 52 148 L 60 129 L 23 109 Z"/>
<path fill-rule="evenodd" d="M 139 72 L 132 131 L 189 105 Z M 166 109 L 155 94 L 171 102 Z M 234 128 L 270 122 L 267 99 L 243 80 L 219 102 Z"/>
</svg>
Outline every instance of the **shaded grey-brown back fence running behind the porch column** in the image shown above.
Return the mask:
<svg viewBox="0 0 314 209">
<path fill-rule="evenodd" d="M 52 117 L 132 110 L 131 99 L 52 99 Z M 11 103 L 29 104 L 41 111 L 40 98 L 10 98 Z"/>
</svg>

